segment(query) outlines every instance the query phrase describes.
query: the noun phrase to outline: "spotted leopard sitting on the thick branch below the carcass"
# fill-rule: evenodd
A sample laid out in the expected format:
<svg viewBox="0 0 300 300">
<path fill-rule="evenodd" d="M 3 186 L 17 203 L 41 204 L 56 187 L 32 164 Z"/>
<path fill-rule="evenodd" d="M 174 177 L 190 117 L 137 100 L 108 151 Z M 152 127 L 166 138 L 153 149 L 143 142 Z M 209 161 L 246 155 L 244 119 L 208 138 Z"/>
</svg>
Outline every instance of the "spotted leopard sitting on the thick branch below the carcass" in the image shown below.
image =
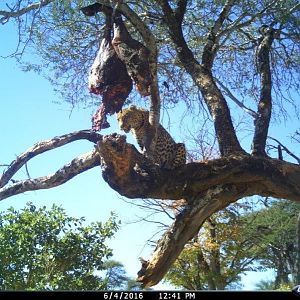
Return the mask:
<svg viewBox="0 0 300 300">
<path fill-rule="evenodd" d="M 143 154 L 160 168 L 173 170 L 186 163 L 184 143 L 176 143 L 169 132 L 159 124 L 156 131 L 155 147 L 148 147 L 147 138 L 151 132 L 149 111 L 131 105 L 117 113 L 119 127 L 126 133 L 131 132 Z"/>
</svg>

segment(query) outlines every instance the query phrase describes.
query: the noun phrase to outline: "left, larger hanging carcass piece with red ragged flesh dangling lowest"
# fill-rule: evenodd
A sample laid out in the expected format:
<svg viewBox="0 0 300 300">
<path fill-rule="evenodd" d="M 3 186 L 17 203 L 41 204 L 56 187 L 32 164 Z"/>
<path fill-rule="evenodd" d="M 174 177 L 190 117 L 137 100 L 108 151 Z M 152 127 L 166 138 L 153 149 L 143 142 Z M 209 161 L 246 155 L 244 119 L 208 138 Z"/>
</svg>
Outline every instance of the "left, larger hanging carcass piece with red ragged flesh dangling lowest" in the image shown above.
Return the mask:
<svg viewBox="0 0 300 300">
<path fill-rule="evenodd" d="M 92 129 L 98 131 L 109 127 L 107 114 L 113 114 L 122 109 L 132 90 L 132 80 L 127 73 L 126 66 L 112 46 L 112 9 L 95 3 L 81 10 L 87 16 L 93 16 L 98 11 L 105 14 L 104 37 L 88 78 L 90 92 L 102 96 L 102 103 L 92 118 Z"/>
</svg>

